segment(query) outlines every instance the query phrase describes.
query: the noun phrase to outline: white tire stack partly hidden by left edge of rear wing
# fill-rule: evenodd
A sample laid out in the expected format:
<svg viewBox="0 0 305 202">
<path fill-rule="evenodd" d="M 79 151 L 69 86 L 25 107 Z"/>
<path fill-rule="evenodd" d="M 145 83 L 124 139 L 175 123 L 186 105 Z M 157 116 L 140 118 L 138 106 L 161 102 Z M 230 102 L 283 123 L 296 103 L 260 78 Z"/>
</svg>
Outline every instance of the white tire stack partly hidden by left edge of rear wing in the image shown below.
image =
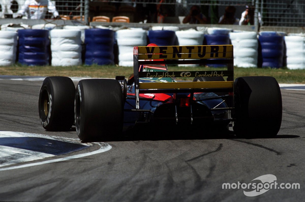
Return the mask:
<svg viewBox="0 0 305 202">
<path fill-rule="evenodd" d="M 133 67 L 133 47 L 147 45 L 146 33 L 142 29 L 124 29 L 116 32 L 120 66 Z"/>
</svg>

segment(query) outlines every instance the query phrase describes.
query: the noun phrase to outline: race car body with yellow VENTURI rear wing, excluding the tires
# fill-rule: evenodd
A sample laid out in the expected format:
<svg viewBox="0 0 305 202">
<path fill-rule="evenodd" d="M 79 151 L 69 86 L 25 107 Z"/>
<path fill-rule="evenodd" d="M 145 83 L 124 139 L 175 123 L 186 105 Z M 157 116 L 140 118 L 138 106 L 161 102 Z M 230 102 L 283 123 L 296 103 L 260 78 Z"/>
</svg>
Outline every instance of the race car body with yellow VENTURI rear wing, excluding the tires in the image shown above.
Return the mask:
<svg viewBox="0 0 305 202">
<path fill-rule="evenodd" d="M 167 65 L 193 63 L 226 63 L 228 70 L 167 70 Z M 229 81 L 177 82 L 179 77 L 227 77 Z M 233 46 L 134 47 L 134 77 L 128 79 L 126 92 L 126 127 L 145 123 L 227 127 L 232 121 Z"/>
</svg>

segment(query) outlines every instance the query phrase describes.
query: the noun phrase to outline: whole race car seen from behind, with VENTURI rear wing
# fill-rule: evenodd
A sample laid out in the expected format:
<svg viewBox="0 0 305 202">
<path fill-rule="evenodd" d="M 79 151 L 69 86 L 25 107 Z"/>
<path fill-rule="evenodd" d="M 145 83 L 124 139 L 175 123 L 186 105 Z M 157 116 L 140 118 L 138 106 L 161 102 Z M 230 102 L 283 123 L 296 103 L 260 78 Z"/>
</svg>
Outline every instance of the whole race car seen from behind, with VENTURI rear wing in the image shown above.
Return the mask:
<svg viewBox="0 0 305 202">
<path fill-rule="evenodd" d="M 228 129 L 239 137 L 274 137 L 282 121 L 282 96 L 273 77 L 233 80 L 233 46 L 134 47 L 134 73 L 125 79 L 84 79 L 76 90 L 68 77 L 47 77 L 39 94 L 46 130 L 75 124 L 84 141 L 109 139 L 139 125 Z M 167 65 L 226 64 L 227 70 L 168 71 Z M 177 82 L 193 77 L 193 82 Z M 226 81 L 224 80 L 226 79 Z M 156 127 L 157 126 L 157 127 Z"/>
</svg>

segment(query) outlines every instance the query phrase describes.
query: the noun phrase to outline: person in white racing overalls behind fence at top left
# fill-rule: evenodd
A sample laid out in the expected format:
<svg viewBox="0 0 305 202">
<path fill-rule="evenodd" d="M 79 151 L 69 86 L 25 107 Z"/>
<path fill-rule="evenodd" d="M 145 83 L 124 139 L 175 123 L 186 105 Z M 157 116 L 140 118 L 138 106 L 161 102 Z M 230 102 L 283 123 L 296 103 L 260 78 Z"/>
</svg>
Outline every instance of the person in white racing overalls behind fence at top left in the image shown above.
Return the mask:
<svg viewBox="0 0 305 202">
<path fill-rule="evenodd" d="M 27 19 L 44 19 L 47 11 L 52 13 L 54 18 L 59 18 L 56 7 L 50 0 L 26 0 L 16 18 L 27 16 Z"/>
</svg>

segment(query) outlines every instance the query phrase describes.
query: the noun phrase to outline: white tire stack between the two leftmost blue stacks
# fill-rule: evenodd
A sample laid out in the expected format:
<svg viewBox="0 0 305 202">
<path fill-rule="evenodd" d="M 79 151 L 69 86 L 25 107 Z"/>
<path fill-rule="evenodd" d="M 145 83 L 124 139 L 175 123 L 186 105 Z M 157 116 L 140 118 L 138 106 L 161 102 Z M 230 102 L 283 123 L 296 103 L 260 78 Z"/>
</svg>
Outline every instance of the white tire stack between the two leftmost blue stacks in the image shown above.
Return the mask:
<svg viewBox="0 0 305 202">
<path fill-rule="evenodd" d="M 54 29 L 50 31 L 52 66 L 81 65 L 81 31 Z"/>
</svg>

